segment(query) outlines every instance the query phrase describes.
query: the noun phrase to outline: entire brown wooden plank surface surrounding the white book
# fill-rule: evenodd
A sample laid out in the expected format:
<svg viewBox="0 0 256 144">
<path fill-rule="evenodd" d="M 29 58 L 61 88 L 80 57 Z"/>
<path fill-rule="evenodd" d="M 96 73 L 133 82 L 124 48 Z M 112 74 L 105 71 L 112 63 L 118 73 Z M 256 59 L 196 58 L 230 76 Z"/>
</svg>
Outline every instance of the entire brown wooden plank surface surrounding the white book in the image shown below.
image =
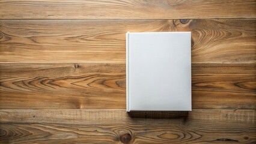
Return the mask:
<svg viewBox="0 0 256 144">
<path fill-rule="evenodd" d="M 192 112 L 126 113 L 127 31 L 192 31 Z M 0 1 L 0 143 L 256 143 L 255 64 L 255 0 Z"/>
</svg>

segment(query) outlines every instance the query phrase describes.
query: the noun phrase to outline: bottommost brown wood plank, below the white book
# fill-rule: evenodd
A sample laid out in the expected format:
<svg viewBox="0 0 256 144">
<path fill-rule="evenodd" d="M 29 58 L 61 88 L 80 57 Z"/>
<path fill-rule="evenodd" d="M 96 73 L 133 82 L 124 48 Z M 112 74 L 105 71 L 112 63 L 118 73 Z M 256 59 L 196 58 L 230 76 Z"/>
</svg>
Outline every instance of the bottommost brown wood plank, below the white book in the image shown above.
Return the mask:
<svg viewBox="0 0 256 144">
<path fill-rule="evenodd" d="M 131 118 L 125 110 L 0 110 L 1 143 L 255 143 L 255 110 Z M 157 115 L 157 113 L 156 113 Z M 129 142 L 129 141 L 127 141 Z"/>
</svg>

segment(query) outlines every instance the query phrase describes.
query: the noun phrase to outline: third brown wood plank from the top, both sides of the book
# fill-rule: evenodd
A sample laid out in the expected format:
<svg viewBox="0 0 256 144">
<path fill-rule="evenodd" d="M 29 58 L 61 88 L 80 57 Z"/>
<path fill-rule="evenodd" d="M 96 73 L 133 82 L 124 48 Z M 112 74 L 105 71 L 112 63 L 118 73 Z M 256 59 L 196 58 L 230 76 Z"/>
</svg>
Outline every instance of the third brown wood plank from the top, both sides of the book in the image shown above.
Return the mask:
<svg viewBox="0 0 256 144">
<path fill-rule="evenodd" d="M 125 67 L 0 64 L 0 108 L 125 109 Z M 255 64 L 193 64 L 192 108 L 256 109 L 255 72 Z"/>
</svg>

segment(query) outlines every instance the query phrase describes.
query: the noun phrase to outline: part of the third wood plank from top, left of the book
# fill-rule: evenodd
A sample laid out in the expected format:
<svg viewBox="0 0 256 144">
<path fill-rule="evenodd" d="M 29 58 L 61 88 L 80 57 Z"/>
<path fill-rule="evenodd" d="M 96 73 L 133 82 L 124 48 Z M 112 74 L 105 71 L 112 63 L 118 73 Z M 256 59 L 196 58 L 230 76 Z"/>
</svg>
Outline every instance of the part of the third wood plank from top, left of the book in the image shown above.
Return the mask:
<svg viewBox="0 0 256 144">
<path fill-rule="evenodd" d="M 124 64 L 11 64 L 0 67 L 2 109 L 126 106 Z"/>
</svg>

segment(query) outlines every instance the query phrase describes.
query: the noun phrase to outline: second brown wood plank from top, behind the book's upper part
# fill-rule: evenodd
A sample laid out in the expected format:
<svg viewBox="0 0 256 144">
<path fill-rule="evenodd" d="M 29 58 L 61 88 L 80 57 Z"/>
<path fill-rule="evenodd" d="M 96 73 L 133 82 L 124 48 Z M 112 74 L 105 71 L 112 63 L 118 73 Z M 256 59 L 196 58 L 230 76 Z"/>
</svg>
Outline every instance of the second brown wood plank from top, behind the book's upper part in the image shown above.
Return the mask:
<svg viewBox="0 0 256 144">
<path fill-rule="evenodd" d="M 126 32 L 192 31 L 192 63 L 255 63 L 256 20 L 0 20 L 0 63 L 126 62 Z"/>
</svg>

